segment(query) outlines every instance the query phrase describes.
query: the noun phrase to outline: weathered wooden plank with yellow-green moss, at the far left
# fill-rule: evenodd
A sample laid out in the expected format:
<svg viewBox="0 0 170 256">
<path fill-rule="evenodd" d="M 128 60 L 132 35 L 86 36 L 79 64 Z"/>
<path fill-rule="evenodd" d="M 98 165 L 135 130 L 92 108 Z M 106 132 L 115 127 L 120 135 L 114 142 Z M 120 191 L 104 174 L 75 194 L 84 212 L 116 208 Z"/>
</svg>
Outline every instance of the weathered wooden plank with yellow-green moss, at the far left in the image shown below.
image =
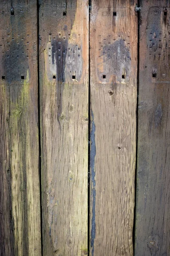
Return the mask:
<svg viewBox="0 0 170 256">
<path fill-rule="evenodd" d="M 37 3 L 0 1 L 0 255 L 41 255 Z"/>
</svg>

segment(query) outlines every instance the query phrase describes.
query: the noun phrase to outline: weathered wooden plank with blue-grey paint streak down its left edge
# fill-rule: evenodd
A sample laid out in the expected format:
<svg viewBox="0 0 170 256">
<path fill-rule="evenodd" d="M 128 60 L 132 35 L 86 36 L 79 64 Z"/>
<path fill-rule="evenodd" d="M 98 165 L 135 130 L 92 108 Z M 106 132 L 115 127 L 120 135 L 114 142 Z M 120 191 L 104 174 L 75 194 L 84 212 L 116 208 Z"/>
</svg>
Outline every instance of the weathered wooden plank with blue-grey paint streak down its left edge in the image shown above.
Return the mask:
<svg viewBox="0 0 170 256">
<path fill-rule="evenodd" d="M 133 1 L 92 0 L 90 255 L 133 255 L 137 15 Z"/>
</svg>

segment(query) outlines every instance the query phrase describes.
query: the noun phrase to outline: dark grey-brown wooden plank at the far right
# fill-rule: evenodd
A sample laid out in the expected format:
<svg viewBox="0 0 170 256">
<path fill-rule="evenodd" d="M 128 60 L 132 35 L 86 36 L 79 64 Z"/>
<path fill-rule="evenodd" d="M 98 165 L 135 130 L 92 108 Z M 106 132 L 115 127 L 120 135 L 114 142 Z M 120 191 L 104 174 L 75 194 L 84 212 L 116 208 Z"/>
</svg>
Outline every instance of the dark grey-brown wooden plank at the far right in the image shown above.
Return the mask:
<svg viewBox="0 0 170 256">
<path fill-rule="evenodd" d="M 170 8 L 141 2 L 135 256 L 170 255 Z"/>
</svg>

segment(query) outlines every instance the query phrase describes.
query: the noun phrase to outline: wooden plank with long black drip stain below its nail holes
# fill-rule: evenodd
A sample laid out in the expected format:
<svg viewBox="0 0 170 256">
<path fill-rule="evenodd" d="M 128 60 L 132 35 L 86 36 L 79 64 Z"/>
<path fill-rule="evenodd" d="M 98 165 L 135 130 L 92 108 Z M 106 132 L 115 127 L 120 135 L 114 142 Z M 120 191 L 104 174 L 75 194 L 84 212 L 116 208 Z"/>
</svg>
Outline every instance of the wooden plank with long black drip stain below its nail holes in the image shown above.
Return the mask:
<svg viewBox="0 0 170 256">
<path fill-rule="evenodd" d="M 43 255 L 86 255 L 88 1 L 40 1 Z"/>
</svg>

